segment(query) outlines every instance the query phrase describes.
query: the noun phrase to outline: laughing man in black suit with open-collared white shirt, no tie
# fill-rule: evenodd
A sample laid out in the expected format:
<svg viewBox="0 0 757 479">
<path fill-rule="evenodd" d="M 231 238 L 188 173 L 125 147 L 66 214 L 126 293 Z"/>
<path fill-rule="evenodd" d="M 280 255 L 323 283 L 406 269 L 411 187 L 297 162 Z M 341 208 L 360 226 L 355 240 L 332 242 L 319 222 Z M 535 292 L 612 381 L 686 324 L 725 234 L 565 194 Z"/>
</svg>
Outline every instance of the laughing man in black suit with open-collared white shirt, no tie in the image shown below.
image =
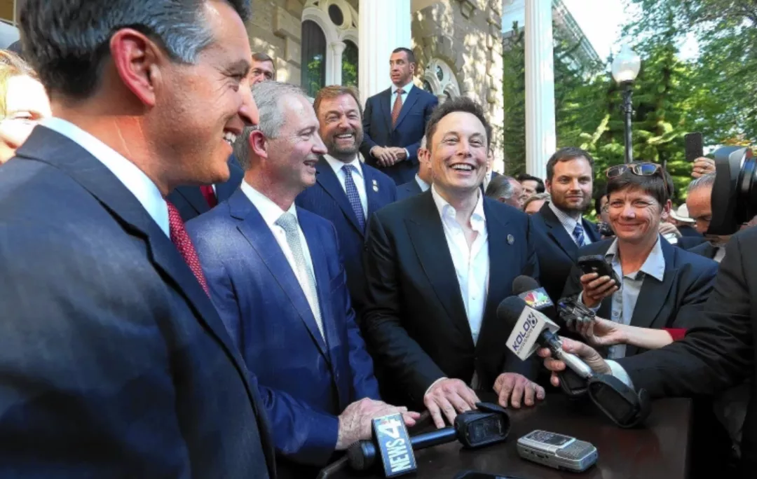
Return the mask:
<svg viewBox="0 0 757 479">
<path fill-rule="evenodd" d="M 481 194 L 491 126 L 469 98 L 441 104 L 426 131 L 431 190 L 378 211 L 366 241 L 366 341 L 391 393 L 428 408 L 435 424 L 475 407 L 474 390 L 503 406 L 534 404 L 544 389 L 531 362 L 506 347 L 497 306 L 512 280 L 538 275 L 524 213 Z M 522 373 L 522 374 L 521 374 Z"/>
</svg>

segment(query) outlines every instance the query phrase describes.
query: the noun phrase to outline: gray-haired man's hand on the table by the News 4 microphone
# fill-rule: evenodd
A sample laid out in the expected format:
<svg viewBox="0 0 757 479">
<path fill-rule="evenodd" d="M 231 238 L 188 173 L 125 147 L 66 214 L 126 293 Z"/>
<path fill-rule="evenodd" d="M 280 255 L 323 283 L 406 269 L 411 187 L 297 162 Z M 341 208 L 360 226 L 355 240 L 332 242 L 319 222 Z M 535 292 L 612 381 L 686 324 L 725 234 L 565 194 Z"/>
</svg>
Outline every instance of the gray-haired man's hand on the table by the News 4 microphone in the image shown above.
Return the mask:
<svg viewBox="0 0 757 479">
<path fill-rule="evenodd" d="M 383 401 L 368 398 L 347 406 L 339 415 L 339 434 L 336 450 L 347 449 L 352 443 L 371 438 L 371 420 L 382 415 L 402 413 L 405 425 L 413 427 L 420 417 L 417 412 L 408 412 L 406 407 L 391 406 Z"/>
</svg>

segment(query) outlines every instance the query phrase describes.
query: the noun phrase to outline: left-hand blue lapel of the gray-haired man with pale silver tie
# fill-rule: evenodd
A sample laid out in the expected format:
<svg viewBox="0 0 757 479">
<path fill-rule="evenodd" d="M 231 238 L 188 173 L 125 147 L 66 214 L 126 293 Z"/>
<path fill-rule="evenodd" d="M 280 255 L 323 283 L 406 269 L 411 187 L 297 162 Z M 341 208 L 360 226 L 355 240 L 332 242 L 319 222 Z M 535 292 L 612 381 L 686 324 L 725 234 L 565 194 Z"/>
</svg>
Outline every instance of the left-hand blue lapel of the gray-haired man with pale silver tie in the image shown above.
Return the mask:
<svg viewBox="0 0 757 479">
<path fill-rule="evenodd" d="M 244 191 L 238 189 L 232 197 L 229 198 L 229 211 L 232 217 L 239 219 L 237 229 L 250 243 L 260 260 L 266 264 L 269 272 L 279 283 L 284 293 L 291 301 L 291 305 L 300 314 L 305 327 L 310 331 L 310 336 L 318 346 L 321 353 L 329 357 L 326 353 L 326 344 L 319 331 L 313 311 L 310 309 L 310 303 L 307 302 L 300 281 L 294 275 L 284 252 L 279 247 L 279 242 L 273 236 L 263 216 L 253 206 L 250 200 L 245 196 Z M 308 245 L 310 247 L 310 245 Z M 316 277 L 316 281 L 318 281 Z"/>
</svg>

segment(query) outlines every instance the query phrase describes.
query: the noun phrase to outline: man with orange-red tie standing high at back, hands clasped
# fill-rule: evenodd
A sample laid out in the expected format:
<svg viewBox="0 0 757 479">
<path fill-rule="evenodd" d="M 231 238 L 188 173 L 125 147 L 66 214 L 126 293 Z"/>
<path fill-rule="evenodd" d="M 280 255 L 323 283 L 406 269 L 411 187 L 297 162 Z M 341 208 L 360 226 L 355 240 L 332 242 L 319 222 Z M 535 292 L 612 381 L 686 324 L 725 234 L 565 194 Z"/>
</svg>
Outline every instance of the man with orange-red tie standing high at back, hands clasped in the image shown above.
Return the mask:
<svg viewBox="0 0 757 479">
<path fill-rule="evenodd" d="M 418 148 L 438 99 L 413 86 L 416 57 L 409 48 L 395 48 L 389 59 L 391 87 L 366 101 L 365 138 L 360 153 L 397 185 L 418 170 Z"/>
</svg>

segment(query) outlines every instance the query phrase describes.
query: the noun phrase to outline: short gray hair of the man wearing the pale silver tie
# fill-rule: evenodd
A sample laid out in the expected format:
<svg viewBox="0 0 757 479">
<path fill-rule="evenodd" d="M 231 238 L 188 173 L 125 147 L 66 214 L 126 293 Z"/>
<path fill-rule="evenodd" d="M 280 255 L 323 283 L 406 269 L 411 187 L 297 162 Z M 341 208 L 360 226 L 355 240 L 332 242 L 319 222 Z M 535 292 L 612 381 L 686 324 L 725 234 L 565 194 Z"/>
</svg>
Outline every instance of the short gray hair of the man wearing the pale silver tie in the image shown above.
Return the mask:
<svg viewBox="0 0 757 479">
<path fill-rule="evenodd" d="M 234 143 L 234 156 L 243 170 L 250 168 L 250 134 L 259 130 L 266 138 L 278 138 L 285 118 L 281 100 L 290 95 L 307 98 L 303 89 L 290 83 L 269 81 L 252 86 L 252 97 L 257 104 L 260 123 L 256 126 L 245 126 Z"/>
</svg>

